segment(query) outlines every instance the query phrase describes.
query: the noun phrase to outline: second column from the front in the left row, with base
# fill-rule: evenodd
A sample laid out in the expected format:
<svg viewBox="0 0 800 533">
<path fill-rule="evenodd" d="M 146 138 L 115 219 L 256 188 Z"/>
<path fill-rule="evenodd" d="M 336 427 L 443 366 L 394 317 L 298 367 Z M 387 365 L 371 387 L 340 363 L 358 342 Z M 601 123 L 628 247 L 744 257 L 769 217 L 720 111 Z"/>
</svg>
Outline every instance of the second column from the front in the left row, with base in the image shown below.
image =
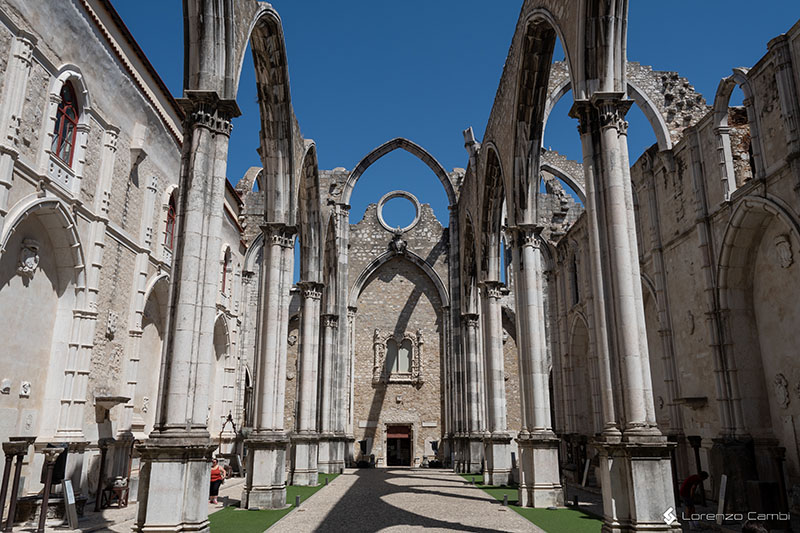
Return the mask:
<svg viewBox="0 0 800 533">
<path fill-rule="evenodd" d="M 294 228 L 267 224 L 261 264 L 254 431 L 247 441 L 247 478 L 242 507 L 281 509 L 286 506 L 286 447 L 283 427 L 286 400 L 286 335 L 292 284 Z"/>
</svg>

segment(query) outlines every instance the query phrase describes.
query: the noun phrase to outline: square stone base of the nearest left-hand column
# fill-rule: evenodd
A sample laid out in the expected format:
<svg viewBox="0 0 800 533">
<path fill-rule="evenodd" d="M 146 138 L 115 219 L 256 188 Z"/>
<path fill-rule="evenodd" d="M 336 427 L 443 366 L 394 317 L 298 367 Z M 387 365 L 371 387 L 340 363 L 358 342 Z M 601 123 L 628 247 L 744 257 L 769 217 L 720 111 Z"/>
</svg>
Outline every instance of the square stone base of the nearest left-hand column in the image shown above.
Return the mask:
<svg viewBox="0 0 800 533">
<path fill-rule="evenodd" d="M 203 432 L 205 433 L 205 432 Z M 140 533 L 207 533 L 211 455 L 216 449 L 206 433 L 193 436 L 153 436 L 137 445 Z"/>
</svg>

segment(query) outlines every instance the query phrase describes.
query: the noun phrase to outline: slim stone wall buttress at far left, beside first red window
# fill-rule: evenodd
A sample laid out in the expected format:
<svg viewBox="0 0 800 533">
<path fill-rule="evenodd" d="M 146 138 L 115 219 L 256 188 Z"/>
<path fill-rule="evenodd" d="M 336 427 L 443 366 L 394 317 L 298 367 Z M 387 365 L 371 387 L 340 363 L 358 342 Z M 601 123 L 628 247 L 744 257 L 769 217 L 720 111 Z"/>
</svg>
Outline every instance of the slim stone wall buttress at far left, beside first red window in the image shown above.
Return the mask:
<svg viewBox="0 0 800 533">
<path fill-rule="evenodd" d="M 8 195 L 14 181 L 14 165 L 19 157 L 20 115 L 25 104 L 36 37 L 21 32 L 11 46 L 11 58 L 5 72 L 5 90 L 0 100 L 0 229 L 8 213 Z"/>
</svg>

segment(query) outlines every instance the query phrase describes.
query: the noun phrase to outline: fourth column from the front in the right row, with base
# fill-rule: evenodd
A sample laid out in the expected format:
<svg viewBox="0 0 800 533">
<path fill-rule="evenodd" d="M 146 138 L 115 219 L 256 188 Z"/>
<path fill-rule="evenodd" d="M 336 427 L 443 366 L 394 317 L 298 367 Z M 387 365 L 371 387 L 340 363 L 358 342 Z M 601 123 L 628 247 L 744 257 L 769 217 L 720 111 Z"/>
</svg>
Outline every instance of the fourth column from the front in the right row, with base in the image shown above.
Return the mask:
<svg viewBox="0 0 800 533">
<path fill-rule="evenodd" d="M 464 471 L 478 474 L 483 463 L 483 433 L 480 418 L 480 383 L 478 375 L 480 316 L 475 313 L 461 315 L 464 326 L 464 356 L 466 360 L 467 382 L 467 457 Z"/>
</svg>

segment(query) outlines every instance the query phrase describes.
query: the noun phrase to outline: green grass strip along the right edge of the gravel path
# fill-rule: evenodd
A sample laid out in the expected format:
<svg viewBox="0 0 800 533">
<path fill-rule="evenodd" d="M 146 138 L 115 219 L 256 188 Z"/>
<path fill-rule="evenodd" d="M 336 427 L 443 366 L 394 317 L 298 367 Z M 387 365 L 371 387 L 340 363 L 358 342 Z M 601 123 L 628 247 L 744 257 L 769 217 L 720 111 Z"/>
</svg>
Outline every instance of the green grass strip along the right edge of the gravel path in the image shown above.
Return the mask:
<svg viewBox="0 0 800 533">
<path fill-rule="evenodd" d="M 491 486 L 481 483 L 483 476 L 479 474 L 461 474 L 461 477 L 471 482 L 475 478 L 475 486 L 492 496 L 498 501 L 503 501 L 503 495 L 508 495 L 508 506 L 520 516 L 533 522 L 548 533 L 599 533 L 603 521 L 598 517 L 578 509 L 534 509 L 520 507 L 519 494 L 516 486 Z"/>
</svg>

